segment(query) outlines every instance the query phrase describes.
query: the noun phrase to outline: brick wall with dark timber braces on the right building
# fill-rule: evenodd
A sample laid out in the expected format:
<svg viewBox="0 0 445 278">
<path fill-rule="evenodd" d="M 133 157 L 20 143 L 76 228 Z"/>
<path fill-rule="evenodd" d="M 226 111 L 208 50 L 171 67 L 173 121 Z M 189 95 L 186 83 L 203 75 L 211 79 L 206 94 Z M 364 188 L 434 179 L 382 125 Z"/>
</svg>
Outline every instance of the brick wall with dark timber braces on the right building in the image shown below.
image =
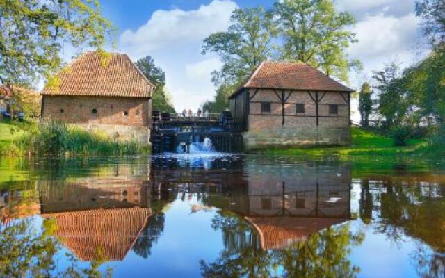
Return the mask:
<svg viewBox="0 0 445 278">
<path fill-rule="evenodd" d="M 281 96 L 281 91 L 277 92 Z M 250 90 L 251 97 L 253 94 L 254 90 Z M 286 91 L 285 95 L 288 94 Z M 347 99 L 347 94 L 343 93 L 343 97 Z M 349 145 L 350 106 L 343 97 L 340 92 L 325 93 L 318 104 L 317 126 L 314 100 L 308 92 L 294 91 L 284 104 L 283 124 L 281 100 L 273 90 L 259 90 L 250 101 L 248 131 L 243 135 L 245 148 Z M 261 112 L 261 102 L 270 102 L 270 113 Z M 296 104 L 305 104 L 305 113 L 297 114 Z M 330 104 L 337 104 L 337 114 L 330 114 Z"/>
</svg>

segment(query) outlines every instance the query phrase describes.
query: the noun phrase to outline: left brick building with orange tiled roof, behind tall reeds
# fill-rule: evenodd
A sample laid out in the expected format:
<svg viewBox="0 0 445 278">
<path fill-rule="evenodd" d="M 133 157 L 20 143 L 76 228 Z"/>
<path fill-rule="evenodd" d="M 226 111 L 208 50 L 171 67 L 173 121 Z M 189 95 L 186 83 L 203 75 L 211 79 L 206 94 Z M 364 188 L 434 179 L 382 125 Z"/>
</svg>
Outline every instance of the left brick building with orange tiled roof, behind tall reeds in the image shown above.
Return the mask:
<svg viewBox="0 0 445 278">
<path fill-rule="evenodd" d="M 149 143 L 153 90 L 127 54 L 87 51 L 42 90 L 42 117 Z"/>
</svg>

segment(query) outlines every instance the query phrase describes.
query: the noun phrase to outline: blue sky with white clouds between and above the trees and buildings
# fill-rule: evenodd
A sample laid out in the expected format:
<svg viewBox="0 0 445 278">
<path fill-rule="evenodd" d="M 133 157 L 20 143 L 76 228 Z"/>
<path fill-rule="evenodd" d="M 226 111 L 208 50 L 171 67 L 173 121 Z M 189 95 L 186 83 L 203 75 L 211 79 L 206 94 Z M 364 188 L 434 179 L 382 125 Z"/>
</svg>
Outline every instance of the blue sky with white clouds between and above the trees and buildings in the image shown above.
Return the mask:
<svg viewBox="0 0 445 278">
<path fill-rule="evenodd" d="M 426 54 L 414 16 L 415 0 L 335 0 L 339 11 L 353 13 L 353 31 L 358 43 L 347 51 L 364 65 L 362 72 L 351 72 L 351 88 L 359 89 L 371 81 L 372 71 L 393 60 L 411 65 Z M 136 60 L 150 55 L 166 72 L 166 88 L 177 111 L 197 110 L 213 99 L 215 88 L 211 72 L 222 63 L 215 54 L 201 54 L 202 40 L 211 33 L 225 31 L 236 8 L 264 6 L 273 0 L 102 0 L 102 13 L 118 30 L 116 49 Z M 353 117 L 357 117 L 353 101 Z"/>
</svg>

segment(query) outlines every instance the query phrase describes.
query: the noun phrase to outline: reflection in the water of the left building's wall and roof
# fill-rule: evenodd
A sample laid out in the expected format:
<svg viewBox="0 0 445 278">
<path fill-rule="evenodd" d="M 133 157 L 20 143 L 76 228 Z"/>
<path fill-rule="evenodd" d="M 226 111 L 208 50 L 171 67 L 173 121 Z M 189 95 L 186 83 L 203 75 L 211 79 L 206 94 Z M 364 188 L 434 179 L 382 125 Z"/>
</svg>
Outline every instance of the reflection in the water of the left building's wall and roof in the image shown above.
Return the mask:
<svg viewBox="0 0 445 278">
<path fill-rule="evenodd" d="M 56 220 L 54 235 L 82 261 L 122 261 L 152 214 L 150 188 L 122 175 L 45 181 L 42 217 Z"/>
</svg>

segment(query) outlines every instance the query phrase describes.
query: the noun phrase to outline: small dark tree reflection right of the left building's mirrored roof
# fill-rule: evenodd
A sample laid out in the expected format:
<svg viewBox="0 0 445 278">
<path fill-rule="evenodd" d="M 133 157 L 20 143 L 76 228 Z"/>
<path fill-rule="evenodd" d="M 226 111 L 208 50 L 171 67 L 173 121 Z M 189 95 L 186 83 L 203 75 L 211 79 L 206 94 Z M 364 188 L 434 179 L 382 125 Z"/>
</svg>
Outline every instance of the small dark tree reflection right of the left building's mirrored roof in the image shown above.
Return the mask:
<svg viewBox="0 0 445 278">
<path fill-rule="evenodd" d="M 136 239 L 133 252 L 147 259 L 152 254 L 152 247 L 156 245 L 164 230 L 164 222 L 165 215 L 163 213 L 154 213 Z"/>
</svg>

